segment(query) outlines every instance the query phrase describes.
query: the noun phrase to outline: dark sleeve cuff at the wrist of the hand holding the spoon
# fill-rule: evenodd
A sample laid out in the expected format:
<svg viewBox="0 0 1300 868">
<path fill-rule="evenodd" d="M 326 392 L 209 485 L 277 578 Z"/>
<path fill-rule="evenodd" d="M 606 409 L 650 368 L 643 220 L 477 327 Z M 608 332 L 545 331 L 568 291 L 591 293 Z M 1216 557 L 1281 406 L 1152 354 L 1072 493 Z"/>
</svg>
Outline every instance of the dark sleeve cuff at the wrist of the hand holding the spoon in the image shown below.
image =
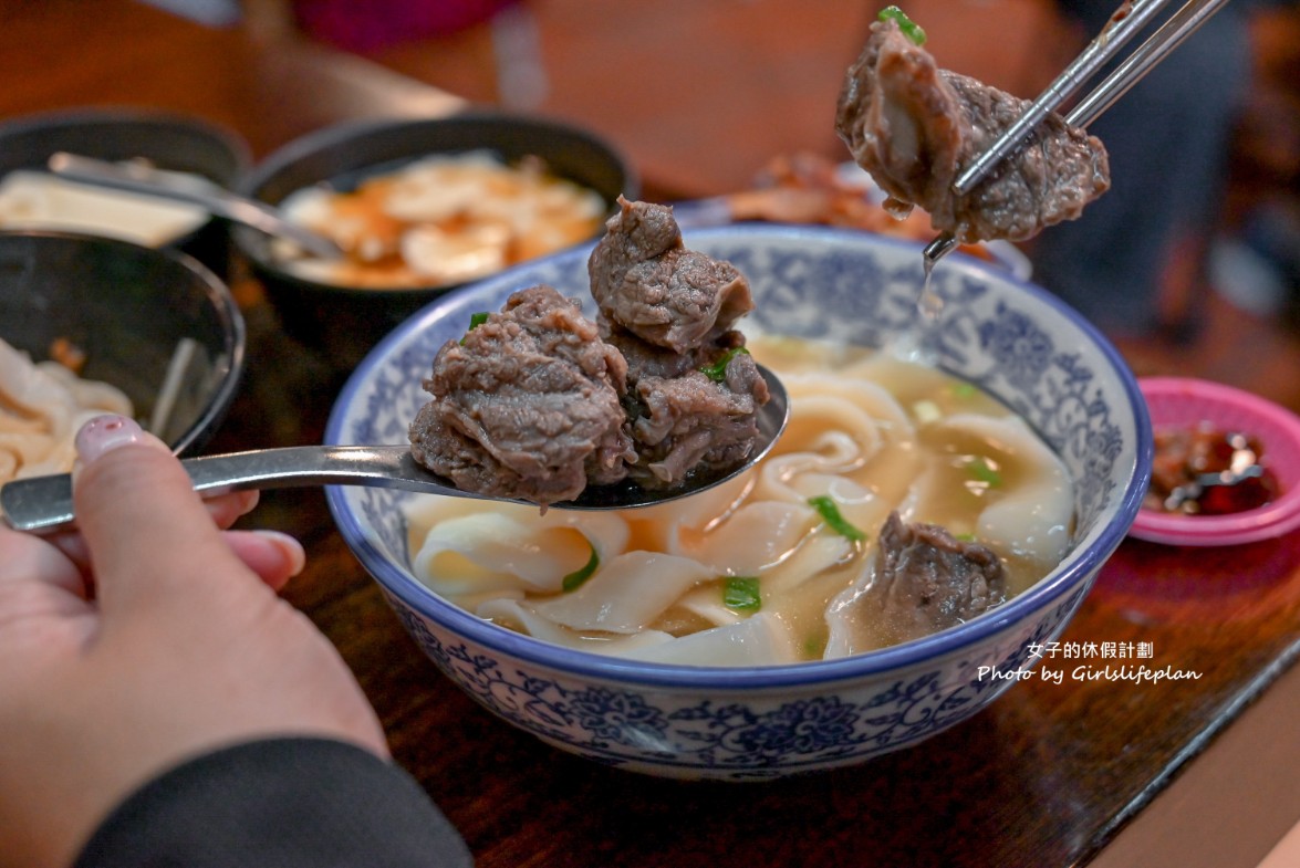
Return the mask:
<svg viewBox="0 0 1300 868">
<path fill-rule="evenodd" d="M 460 868 L 469 850 L 406 772 L 324 738 L 182 763 L 130 795 L 75 868 Z"/>
</svg>

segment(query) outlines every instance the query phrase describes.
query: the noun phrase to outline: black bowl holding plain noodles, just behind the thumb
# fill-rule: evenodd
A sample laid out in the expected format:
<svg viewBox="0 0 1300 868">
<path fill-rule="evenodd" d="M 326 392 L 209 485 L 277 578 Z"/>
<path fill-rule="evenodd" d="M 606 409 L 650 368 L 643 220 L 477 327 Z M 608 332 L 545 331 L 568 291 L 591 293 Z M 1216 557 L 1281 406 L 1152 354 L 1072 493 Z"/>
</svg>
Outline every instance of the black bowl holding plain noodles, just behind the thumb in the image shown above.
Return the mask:
<svg viewBox="0 0 1300 868">
<path fill-rule="evenodd" d="M 221 424 L 244 366 L 239 308 L 198 260 L 70 233 L 0 231 L 0 338 L 36 361 L 72 343 L 81 376 L 126 392 L 147 428 L 168 395 L 155 433 L 187 455 Z"/>
</svg>

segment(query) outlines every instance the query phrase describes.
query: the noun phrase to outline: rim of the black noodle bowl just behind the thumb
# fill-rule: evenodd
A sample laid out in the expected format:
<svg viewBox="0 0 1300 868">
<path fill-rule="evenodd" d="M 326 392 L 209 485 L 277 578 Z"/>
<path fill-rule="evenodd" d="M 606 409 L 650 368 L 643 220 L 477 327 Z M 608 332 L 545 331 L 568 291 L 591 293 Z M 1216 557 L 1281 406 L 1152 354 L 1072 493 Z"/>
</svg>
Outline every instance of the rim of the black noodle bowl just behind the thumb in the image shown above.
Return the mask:
<svg viewBox="0 0 1300 868">
<path fill-rule="evenodd" d="M 208 296 L 208 300 L 216 311 L 217 318 L 221 324 L 221 335 L 225 344 L 224 348 L 230 359 L 230 365 L 221 377 L 221 383 L 212 394 L 212 398 L 208 400 L 203 413 L 176 442 L 169 446 L 176 455 L 187 455 L 202 447 L 204 440 L 211 437 L 213 429 L 216 429 L 229 412 L 230 405 L 234 403 L 235 394 L 239 391 L 243 382 L 247 364 L 247 324 L 244 322 L 243 313 L 239 311 L 239 304 L 235 301 L 234 294 L 230 291 L 230 287 L 226 286 L 225 281 L 217 277 L 212 269 L 194 256 L 173 247 L 148 247 L 146 244 L 136 244 L 135 242 L 129 242 L 121 238 L 110 238 L 108 235 L 94 235 L 90 233 L 74 233 L 55 229 L 0 229 L 0 238 L 49 238 L 75 243 L 94 242 L 108 247 L 126 248 L 133 251 L 135 255 L 143 253 L 144 256 L 159 256 L 170 260 L 199 278 L 204 295 Z"/>
</svg>

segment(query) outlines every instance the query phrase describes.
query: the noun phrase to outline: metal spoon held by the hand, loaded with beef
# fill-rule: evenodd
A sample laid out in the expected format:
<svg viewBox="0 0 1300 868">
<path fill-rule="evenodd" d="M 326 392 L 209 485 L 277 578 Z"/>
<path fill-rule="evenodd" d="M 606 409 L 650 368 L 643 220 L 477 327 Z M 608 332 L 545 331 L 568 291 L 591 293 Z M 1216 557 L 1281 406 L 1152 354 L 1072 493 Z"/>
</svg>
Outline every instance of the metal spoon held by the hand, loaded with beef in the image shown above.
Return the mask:
<svg viewBox="0 0 1300 868">
<path fill-rule="evenodd" d="M 771 394 L 758 413 L 758 442 L 740 465 L 714 474 L 688 476 L 675 489 L 642 489 L 634 482 L 588 486 L 575 500 L 550 504 L 551 509 L 634 509 L 653 507 L 711 489 L 753 466 L 767 455 L 789 421 L 789 396 L 772 372 L 759 366 Z M 313 485 L 361 485 L 442 494 L 478 500 L 525 503 L 512 498 L 462 491 L 430 473 L 411 455 L 410 446 L 291 446 L 209 455 L 182 461 L 195 491 L 221 494 L 248 489 L 291 489 Z M 536 505 L 536 504 L 530 504 Z M 31 477 L 0 486 L 0 518 L 14 530 L 47 531 L 70 525 L 72 476 Z"/>
</svg>

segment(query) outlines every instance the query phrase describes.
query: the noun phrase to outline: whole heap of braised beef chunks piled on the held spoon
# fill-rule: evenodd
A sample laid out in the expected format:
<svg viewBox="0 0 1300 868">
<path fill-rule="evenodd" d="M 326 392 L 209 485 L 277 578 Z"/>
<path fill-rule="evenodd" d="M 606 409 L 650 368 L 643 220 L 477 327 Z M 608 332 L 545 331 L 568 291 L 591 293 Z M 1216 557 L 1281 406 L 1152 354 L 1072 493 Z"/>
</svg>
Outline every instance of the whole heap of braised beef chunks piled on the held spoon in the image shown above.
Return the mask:
<svg viewBox="0 0 1300 868">
<path fill-rule="evenodd" d="M 731 264 L 688 251 L 664 205 L 620 199 L 589 261 L 598 324 L 552 287 L 512 295 L 448 342 L 410 430 L 458 487 L 546 505 L 588 483 L 670 487 L 754 451 L 767 382 L 732 322 L 753 308 Z"/>
</svg>

